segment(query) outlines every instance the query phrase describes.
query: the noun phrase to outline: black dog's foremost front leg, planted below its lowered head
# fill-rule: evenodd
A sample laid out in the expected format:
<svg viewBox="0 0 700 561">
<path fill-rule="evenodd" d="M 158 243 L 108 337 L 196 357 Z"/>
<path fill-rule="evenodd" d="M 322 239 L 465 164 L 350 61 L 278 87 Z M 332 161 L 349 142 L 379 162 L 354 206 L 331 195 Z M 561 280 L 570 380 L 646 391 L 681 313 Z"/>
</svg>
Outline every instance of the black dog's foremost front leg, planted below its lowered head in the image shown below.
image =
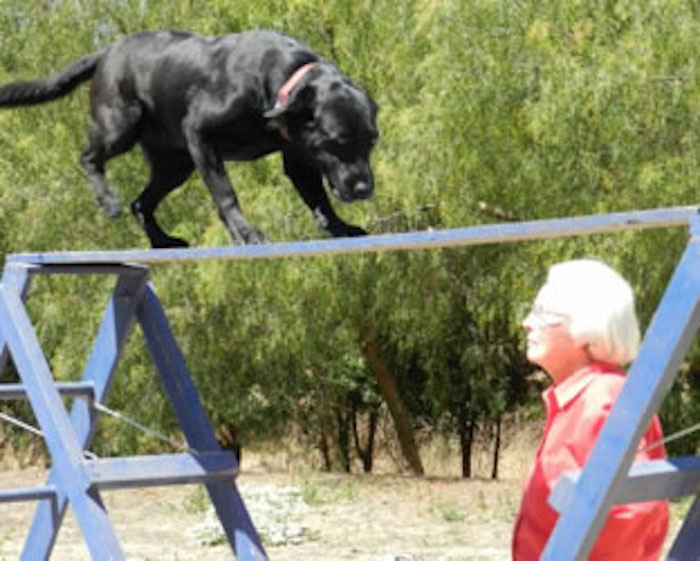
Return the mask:
<svg viewBox="0 0 700 561">
<path fill-rule="evenodd" d="M 302 163 L 285 152 L 284 173 L 291 179 L 301 198 L 309 207 L 319 228 L 332 236 L 351 237 L 367 234 L 359 226 L 348 224 L 333 210 L 323 188 L 323 177 L 314 168 Z"/>
</svg>

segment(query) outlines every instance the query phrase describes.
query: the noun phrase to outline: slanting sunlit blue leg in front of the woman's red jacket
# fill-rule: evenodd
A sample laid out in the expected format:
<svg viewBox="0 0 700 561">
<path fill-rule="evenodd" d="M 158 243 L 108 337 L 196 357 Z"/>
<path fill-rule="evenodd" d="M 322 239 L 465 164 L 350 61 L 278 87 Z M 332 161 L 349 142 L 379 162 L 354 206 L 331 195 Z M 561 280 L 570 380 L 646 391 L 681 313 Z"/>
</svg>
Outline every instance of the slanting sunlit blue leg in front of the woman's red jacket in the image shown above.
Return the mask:
<svg viewBox="0 0 700 561">
<path fill-rule="evenodd" d="M 543 561 L 584 560 L 627 477 L 642 433 L 658 411 L 700 324 L 700 219 L 649 326 L 637 359 L 585 465 Z M 697 528 L 696 528 L 697 530 Z"/>
</svg>

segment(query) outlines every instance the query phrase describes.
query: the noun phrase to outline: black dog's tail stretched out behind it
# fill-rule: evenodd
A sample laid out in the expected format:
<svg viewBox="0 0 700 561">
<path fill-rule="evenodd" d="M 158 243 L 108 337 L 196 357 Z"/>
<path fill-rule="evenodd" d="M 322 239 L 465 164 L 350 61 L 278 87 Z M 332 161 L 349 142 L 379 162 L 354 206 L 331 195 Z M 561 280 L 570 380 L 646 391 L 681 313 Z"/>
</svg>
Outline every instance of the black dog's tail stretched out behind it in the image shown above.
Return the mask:
<svg viewBox="0 0 700 561">
<path fill-rule="evenodd" d="M 104 51 L 87 55 L 48 78 L 0 86 L 0 107 L 38 105 L 72 92 L 92 78 Z"/>
</svg>

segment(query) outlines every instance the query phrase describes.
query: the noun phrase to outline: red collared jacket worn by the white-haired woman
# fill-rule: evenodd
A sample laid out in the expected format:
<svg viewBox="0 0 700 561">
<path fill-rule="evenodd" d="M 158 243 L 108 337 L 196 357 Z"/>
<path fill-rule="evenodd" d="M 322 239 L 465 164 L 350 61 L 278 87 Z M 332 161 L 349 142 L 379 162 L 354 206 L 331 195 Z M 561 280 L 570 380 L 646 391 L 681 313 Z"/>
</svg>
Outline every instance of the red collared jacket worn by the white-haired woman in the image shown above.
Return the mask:
<svg viewBox="0 0 700 561">
<path fill-rule="evenodd" d="M 525 483 L 513 532 L 513 560 L 536 561 L 558 514 L 547 503 L 559 476 L 581 469 L 625 381 L 624 371 L 593 363 L 543 394 L 547 423 L 535 464 Z M 655 415 L 639 449 L 663 438 Z M 639 460 L 662 459 L 663 445 L 639 452 Z M 668 530 L 667 501 L 616 505 L 593 546 L 589 561 L 657 561 Z"/>
</svg>

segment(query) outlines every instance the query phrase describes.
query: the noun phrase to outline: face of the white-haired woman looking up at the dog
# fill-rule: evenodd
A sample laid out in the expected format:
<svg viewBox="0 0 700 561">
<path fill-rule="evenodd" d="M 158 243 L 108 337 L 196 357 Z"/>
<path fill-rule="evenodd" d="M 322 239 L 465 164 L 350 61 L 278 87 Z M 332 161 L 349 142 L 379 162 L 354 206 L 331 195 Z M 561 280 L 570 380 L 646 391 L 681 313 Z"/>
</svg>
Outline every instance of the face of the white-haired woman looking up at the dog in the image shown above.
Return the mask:
<svg viewBox="0 0 700 561">
<path fill-rule="evenodd" d="M 548 285 L 542 287 L 522 325 L 527 334 L 527 359 L 558 383 L 590 359 L 585 344 L 571 336 L 571 319 L 548 307 L 548 290 Z"/>
</svg>

